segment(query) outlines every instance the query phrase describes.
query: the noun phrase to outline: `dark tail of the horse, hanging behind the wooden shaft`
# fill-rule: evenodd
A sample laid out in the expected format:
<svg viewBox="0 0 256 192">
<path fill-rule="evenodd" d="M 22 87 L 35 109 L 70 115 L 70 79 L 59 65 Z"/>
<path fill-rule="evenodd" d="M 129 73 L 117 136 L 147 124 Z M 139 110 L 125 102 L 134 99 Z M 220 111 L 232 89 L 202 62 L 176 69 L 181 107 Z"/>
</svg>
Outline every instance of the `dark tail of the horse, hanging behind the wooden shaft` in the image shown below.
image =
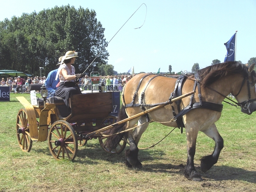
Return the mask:
<svg viewBox="0 0 256 192">
<path fill-rule="evenodd" d="M 126 112 L 125 112 L 125 107 L 122 105 L 119 114 L 118 114 L 118 118 L 117 118 L 117 122 L 128 118 Z M 116 125 L 115 127 L 111 128 L 110 130 L 108 130 L 107 132 L 105 132 L 106 134 L 116 134 L 118 132 L 123 131 L 124 125 L 126 122 L 120 124 L 120 125 Z M 121 134 L 116 134 L 113 136 L 108 137 L 108 139 L 106 140 L 106 148 L 113 150 L 114 148 L 117 147 L 117 145 L 120 143 L 120 141 L 122 140 L 122 138 L 124 137 L 125 132 L 121 133 Z"/>
</svg>

